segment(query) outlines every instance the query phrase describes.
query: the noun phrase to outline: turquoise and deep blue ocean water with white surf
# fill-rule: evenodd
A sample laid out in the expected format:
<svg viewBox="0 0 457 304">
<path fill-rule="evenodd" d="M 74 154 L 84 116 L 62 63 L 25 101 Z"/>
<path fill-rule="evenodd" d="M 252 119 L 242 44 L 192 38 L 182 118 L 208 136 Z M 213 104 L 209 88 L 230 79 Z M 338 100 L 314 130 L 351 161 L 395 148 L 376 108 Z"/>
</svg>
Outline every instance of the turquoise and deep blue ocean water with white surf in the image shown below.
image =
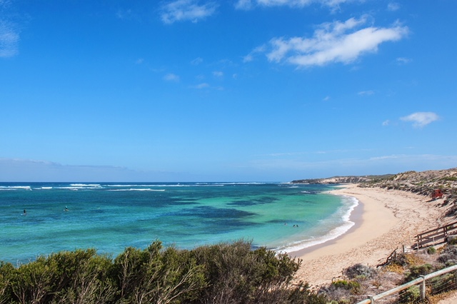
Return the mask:
<svg viewBox="0 0 457 304">
<path fill-rule="evenodd" d="M 60 250 L 194 248 L 233 240 L 291 252 L 345 233 L 355 198 L 288 183 L 0 183 L 0 260 Z M 24 213 L 25 211 L 25 213 Z"/>
</svg>

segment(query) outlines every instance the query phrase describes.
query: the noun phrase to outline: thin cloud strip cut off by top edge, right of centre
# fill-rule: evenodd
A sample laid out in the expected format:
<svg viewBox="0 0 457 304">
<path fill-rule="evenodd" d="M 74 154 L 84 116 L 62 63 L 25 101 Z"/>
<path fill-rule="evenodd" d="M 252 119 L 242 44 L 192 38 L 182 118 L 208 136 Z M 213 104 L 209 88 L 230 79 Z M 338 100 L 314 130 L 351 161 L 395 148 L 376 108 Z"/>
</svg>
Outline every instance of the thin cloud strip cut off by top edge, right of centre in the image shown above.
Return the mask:
<svg viewBox="0 0 457 304">
<path fill-rule="evenodd" d="M 338 7 L 339 4 L 350 2 L 353 0 L 238 0 L 236 1 L 236 9 L 252 9 L 255 6 L 290 6 L 290 7 L 304 7 L 311 4 L 321 4 L 323 6 L 331 7 L 332 9 Z"/>
</svg>

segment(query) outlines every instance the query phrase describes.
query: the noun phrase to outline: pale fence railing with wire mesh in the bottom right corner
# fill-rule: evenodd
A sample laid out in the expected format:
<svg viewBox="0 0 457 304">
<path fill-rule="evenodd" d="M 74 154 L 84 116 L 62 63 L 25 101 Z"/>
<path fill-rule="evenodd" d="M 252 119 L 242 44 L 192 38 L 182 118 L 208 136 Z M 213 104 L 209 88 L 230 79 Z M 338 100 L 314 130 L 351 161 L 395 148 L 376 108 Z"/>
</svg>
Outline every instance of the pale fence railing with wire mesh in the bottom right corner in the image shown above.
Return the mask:
<svg viewBox="0 0 457 304">
<path fill-rule="evenodd" d="M 457 289 L 457 265 L 422 275 L 416 280 L 387 290 L 357 304 L 375 303 L 426 303 L 429 295 L 437 295 Z M 408 290 L 408 291 L 407 291 Z"/>
</svg>

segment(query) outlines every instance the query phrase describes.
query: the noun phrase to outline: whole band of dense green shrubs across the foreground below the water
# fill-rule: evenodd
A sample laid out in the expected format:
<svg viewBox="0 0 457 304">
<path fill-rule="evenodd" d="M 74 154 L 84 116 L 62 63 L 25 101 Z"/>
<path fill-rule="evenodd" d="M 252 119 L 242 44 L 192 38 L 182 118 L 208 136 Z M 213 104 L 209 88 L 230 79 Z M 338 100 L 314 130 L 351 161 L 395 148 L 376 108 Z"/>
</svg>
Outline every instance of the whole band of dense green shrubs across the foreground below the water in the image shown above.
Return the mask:
<svg viewBox="0 0 457 304">
<path fill-rule="evenodd" d="M 156 241 L 114 259 L 64 251 L 18 267 L 0 262 L 0 303 L 326 303 L 292 284 L 300 264 L 244 241 L 194 250 Z"/>
</svg>

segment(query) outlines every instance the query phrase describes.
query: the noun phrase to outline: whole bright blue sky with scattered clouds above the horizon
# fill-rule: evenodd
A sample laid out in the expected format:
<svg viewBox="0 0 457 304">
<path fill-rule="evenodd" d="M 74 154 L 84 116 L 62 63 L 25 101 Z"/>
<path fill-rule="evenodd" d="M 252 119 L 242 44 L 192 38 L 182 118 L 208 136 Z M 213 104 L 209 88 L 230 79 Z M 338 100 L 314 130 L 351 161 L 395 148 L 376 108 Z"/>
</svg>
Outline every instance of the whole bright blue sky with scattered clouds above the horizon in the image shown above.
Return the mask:
<svg viewBox="0 0 457 304">
<path fill-rule="evenodd" d="M 457 166 L 457 1 L 0 0 L 0 181 Z"/>
</svg>

